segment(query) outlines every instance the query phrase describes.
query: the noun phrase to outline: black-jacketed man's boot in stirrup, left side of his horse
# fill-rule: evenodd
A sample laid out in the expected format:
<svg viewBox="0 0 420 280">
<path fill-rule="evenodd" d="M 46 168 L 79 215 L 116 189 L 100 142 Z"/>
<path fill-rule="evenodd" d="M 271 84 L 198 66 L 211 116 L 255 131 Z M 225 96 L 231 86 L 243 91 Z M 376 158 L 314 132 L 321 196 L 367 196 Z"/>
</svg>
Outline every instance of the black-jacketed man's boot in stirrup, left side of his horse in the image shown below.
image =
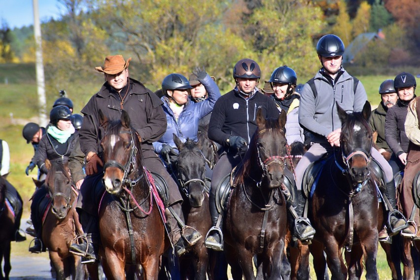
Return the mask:
<svg viewBox="0 0 420 280">
<path fill-rule="evenodd" d="M 210 216 L 213 226 L 207 233 L 205 245 L 215 251 L 223 251 L 223 215 L 217 211 L 215 197 L 211 192 L 209 200 Z"/>
</svg>

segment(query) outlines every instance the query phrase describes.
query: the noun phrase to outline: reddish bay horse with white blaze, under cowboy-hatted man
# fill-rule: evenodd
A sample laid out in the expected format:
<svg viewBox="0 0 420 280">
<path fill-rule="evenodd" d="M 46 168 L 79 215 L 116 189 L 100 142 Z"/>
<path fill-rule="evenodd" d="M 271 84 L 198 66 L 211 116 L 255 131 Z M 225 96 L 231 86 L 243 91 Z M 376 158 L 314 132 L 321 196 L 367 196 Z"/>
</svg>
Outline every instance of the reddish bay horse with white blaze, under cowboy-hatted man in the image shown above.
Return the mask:
<svg viewBox="0 0 420 280">
<path fill-rule="evenodd" d="M 140 265 L 145 280 L 157 279 L 165 228 L 153 179 L 142 165 L 139 137 L 124 110 L 118 120 L 108 120 L 100 110 L 99 119 L 105 128 L 101 146 L 106 192 L 99 206 L 105 276 L 124 280 L 125 269 Z"/>
</svg>

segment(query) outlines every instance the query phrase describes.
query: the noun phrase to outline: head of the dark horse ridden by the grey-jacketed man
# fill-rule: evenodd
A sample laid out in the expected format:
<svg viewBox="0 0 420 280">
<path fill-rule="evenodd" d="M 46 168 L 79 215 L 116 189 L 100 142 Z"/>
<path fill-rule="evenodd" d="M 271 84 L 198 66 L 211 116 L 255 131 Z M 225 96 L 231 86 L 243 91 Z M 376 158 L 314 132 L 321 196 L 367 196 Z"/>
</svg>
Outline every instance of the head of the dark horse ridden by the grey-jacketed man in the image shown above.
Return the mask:
<svg viewBox="0 0 420 280">
<path fill-rule="evenodd" d="M 337 111 L 342 123 L 340 147 L 345 165 L 343 173 L 347 173 L 353 185 L 357 185 L 366 181 L 369 176 L 372 131 L 368 120 L 371 106 L 366 101 L 361 112 L 347 114 L 337 104 Z"/>
</svg>

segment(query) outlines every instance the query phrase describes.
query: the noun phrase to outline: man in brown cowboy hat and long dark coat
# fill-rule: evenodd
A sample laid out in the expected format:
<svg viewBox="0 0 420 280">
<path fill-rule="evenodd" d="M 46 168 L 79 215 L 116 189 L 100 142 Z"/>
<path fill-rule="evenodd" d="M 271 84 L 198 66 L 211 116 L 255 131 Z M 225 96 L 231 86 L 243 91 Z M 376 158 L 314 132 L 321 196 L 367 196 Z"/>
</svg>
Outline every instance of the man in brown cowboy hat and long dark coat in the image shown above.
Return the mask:
<svg viewBox="0 0 420 280">
<path fill-rule="evenodd" d="M 201 238 L 201 235 L 191 228 L 184 228 L 181 237 L 181 225 L 176 221 L 184 220 L 181 210 L 182 198 L 175 181 L 155 154 L 152 145 L 152 142 L 159 140 L 166 131 L 163 103 L 142 83 L 129 77 L 130 61 L 131 58 L 125 61 L 121 55 L 107 56 L 104 67 L 95 68 L 105 74 L 105 83 L 81 110 L 84 118 L 79 137 L 81 150 L 86 155 L 87 176 L 80 188 L 77 211 L 88 243 L 73 244 L 70 251 L 85 256 L 85 262 L 97 259 L 99 244 L 97 209 L 93 203 L 94 198 L 91 197 L 93 182 L 103 176 L 103 151 L 99 143 L 105 136 L 105 131 L 100 126 L 99 110 L 110 120 L 120 119 L 122 110 L 128 112 L 131 125 L 140 137 L 144 166 L 152 173 L 161 175 L 168 184 L 169 199 L 164 203 L 168 209 L 167 226 L 177 254 L 183 254 L 186 247 L 194 245 Z"/>
</svg>

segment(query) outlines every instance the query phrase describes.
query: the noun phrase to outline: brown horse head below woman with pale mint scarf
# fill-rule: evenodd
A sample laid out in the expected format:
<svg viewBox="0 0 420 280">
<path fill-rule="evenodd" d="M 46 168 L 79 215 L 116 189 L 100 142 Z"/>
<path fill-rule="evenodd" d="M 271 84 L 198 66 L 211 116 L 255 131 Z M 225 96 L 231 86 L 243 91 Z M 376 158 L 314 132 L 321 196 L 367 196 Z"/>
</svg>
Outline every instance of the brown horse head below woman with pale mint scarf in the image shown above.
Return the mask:
<svg viewBox="0 0 420 280">
<path fill-rule="evenodd" d="M 45 165 L 48 169 L 45 182 L 51 197 L 51 211 L 59 221 L 62 221 L 71 208 L 70 170 L 67 163 L 47 162 Z"/>
</svg>

